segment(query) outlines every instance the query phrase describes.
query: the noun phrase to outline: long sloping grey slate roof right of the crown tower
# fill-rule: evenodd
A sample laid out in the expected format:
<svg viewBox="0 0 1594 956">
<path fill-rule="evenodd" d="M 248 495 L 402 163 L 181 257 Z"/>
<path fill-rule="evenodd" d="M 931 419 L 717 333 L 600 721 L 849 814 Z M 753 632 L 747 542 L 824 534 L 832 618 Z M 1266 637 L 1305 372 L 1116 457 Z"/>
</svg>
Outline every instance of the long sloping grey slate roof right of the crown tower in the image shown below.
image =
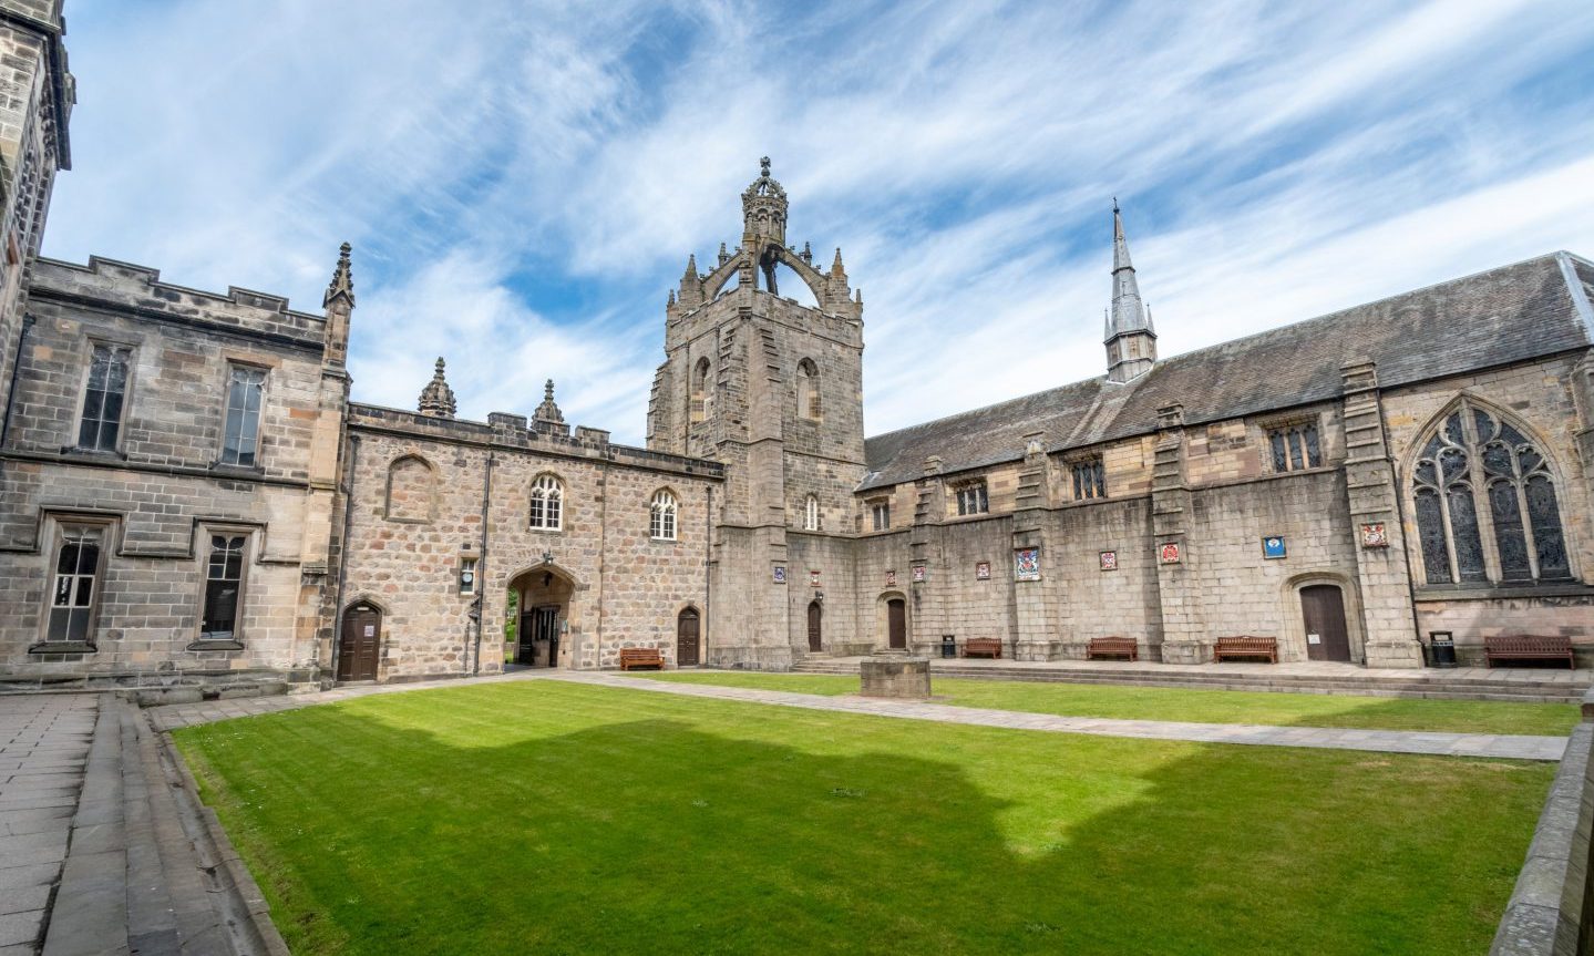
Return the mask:
<svg viewBox="0 0 1594 956">
<path fill-rule="evenodd" d="M 1350 360 L 1371 358 L 1395 387 L 1586 349 L 1591 300 L 1594 263 L 1565 252 L 1452 279 L 1175 355 L 1132 382 L 1086 379 L 877 435 L 859 491 L 918 478 L 932 454 L 944 473 L 1020 459 L 1035 432 L 1047 451 L 1144 435 L 1173 403 L 1200 424 L 1336 398 Z"/>
</svg>

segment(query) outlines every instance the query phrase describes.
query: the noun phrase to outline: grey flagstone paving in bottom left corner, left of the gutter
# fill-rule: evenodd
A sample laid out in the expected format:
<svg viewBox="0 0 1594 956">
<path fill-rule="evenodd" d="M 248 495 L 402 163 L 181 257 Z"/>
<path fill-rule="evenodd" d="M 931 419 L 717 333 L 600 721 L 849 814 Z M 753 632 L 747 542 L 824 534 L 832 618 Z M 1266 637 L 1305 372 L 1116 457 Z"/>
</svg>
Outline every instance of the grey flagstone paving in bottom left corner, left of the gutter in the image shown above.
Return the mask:
<svg viewBox="0 0 1594 956">
<path fill-rule="evenodd" d="M 0 696 L 0 956 L 32 956 L 67 859 L 92 695 Z"/>
</svg>

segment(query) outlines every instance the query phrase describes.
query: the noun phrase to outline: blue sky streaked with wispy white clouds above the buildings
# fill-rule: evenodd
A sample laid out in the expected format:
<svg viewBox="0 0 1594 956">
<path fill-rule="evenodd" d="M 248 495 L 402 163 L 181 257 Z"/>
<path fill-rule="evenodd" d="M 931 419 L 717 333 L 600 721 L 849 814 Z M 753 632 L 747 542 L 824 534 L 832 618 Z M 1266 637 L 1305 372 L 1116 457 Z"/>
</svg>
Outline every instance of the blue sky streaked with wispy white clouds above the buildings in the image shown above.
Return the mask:
<svg viewBox="0 0 1594 956">
<path fill-rule="evenodd" d="M 1594 255 L 1594 18 L 1481 3 L 67 0 L 45 253 L 319 309 L 355 397 L 641 443 L 663 304 L 773 158 L 866 303 L 869 433 L 1100 374 L 1111 198 L 1162 355 Z M 783 292 L 786 288 L 783 287 Z"/>
</svg>

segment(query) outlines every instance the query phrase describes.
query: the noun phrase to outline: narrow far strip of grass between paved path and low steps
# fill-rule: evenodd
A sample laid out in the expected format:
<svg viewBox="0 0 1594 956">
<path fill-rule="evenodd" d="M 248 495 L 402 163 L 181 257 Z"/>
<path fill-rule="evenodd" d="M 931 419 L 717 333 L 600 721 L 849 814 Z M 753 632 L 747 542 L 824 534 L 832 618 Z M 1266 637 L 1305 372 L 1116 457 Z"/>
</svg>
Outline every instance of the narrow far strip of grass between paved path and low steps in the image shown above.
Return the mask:
<svg viewBox="0 0 1594 956">
<path fill-rule="evenodd" d="M 858 677 L 838 674 L 759 674 L 748 671 L 633 671 L 630 677 L 789 690 L 792 693 L 858 693 Z M 1270 693 L 1247 690 L 1183 690 L 1101 684 L 1027 684 L 934 677 L 940 703 L 996 711 L 1113 717 L 1124 720 L 1194 720 L 1200 723 L 1272 723 L 1283 727 L 1350 727 L 1374 730 L 1454 730 L 1462 733 L 1527 733 L 1564 736 L 1578 723 L 1576 704 L 1435 701 Z"/>
</svg>

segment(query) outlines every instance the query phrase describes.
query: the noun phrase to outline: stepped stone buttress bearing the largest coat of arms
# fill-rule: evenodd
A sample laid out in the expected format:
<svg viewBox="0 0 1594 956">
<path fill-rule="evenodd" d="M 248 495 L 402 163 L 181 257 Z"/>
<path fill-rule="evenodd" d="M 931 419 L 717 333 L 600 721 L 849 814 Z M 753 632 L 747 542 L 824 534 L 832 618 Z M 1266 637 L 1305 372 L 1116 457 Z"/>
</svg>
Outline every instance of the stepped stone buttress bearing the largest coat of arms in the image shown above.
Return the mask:
<svg viewBox="0 0 1594 956">
<path fill-rule="evenodd" d="M 1047 575 L 1055 569 L 1054 532 L 1050 527 L 1052 480 L 1050 459 L 1046 454 L 1044 435 L 1025 435 L 1023 467 L 1019 472 L 1019 492 L 1012 511 L 1014 553 L 1039 550 L 1038 578 L 1014 582 L 1014 636 L 1012 656 L 1020 661 L 1050 661 L 1062 656 L 1063 636 L 1057 629 L 1060 615 L 1060 577 Z M 1017 558 L 1009 559 L 1015 562 Z M 1009 570 L 1007 574 L 1014 574 Z"/>
</svg>

